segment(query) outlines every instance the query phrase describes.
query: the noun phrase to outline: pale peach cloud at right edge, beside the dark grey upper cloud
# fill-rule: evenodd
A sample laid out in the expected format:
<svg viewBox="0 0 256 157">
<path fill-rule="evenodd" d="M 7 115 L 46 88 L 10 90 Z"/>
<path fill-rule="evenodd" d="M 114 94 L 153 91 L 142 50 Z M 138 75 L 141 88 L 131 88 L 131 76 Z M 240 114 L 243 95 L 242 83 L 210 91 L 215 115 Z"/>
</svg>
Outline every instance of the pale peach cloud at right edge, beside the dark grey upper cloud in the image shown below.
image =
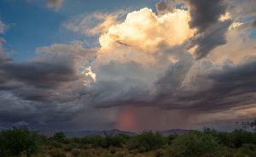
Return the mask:
<svg viewBox="0 0 256 157">
<path fill-rule="evenodd" d="M 207 55 L 207 59 L 211 59 L 214 62 L 230 59 L 238 63 L 245 56 L 255 55 L 254 45 L 256 41 L 250 37 L 252 23 L 253 21 L 233 22 L 226 32 L 226 43 L 212 49 L 211 53 Z"/>
</svg>

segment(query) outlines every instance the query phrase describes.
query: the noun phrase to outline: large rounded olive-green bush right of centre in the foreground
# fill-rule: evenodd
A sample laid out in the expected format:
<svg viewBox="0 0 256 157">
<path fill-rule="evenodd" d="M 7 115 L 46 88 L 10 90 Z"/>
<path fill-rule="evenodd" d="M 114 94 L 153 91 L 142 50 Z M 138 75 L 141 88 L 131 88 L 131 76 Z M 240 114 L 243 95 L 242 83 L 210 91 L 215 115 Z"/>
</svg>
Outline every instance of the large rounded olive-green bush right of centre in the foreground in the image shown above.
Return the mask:
<svg viewBox="0 0 256 157">
<path fill-rule="evenodd" d="M 195 131 L 178 136 L 173 140 L 172 146 L 176 156 L 197 157 L 218 150 L 218 143 L 212 135 Z"/>
</svg>

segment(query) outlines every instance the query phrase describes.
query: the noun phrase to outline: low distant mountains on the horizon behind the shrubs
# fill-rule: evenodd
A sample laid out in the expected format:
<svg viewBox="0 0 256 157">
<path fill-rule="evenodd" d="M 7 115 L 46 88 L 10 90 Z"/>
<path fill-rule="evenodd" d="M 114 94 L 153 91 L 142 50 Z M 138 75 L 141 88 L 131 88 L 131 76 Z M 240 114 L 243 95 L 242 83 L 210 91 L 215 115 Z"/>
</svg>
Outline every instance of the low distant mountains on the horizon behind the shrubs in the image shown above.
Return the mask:
<svg viewBox="0 0 256 157">
<path fill-rule="evenodd" d="M 160 133 L 167 137 L 170 134 L 184 134 L 186 132 L 189 132 L 189 130 L 184 130 L 184 129 L 172 129 L 172 130 L 167 130 L 167 131 L 160 131 Z M 67 137 L 85 137 L 85 136 L 94 136 L 94 135 L 99 135 L 99 136 L 105 136 L 105 133 L 108 135 L 117 135 L 117 134 L 125 134 L 125 135 L 136 135 L 137 133 L 135 132 L 126 132 L 126 131 L 120 131 L 119 129 L 112 129 L 112 130 L 107 130 L 107 131 L 99 131 L 99 130 L 92 130 L 92 131 L 69 131 L 69 132 L 64 132 Z M 55 131 L 50 131 L 50 130 L 42 130 L 39 131 L 39 134 L 44 135 L 46 137 L 53 137 L 55 134 Z"/>
</svg>

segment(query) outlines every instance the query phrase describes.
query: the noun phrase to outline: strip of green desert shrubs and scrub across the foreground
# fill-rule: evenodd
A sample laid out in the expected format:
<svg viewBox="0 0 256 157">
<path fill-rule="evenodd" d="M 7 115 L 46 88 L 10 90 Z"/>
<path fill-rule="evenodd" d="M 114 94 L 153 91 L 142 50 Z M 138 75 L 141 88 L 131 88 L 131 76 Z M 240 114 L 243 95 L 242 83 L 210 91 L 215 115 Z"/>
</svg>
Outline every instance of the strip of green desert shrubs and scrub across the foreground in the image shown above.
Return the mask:
<svg viewBox="0 0 256 157">
<path fill-rule="evenodd" d="M 0 134 L 1 157 L 255 157 L 254 123 L 233 132 L 205 128 L 167 137 L 160 132 L 66 137 L 56 132 L 44 137 L 28 128 L 13 127 Z"/>
</svg>

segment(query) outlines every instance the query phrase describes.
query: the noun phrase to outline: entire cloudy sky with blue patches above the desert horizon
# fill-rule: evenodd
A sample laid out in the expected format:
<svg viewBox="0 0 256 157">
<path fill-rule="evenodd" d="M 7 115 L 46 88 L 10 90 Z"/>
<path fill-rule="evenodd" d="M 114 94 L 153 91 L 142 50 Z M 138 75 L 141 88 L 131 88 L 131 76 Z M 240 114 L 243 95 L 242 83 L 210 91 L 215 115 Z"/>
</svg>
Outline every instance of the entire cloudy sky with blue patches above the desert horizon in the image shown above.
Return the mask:
<svg viewBox="0 0 256 157">
<path fill-rule="evenodd" d="M 0 1 L 0 128 L 230 131 L 255 102 L 254 0 Z"/>
</svg>

